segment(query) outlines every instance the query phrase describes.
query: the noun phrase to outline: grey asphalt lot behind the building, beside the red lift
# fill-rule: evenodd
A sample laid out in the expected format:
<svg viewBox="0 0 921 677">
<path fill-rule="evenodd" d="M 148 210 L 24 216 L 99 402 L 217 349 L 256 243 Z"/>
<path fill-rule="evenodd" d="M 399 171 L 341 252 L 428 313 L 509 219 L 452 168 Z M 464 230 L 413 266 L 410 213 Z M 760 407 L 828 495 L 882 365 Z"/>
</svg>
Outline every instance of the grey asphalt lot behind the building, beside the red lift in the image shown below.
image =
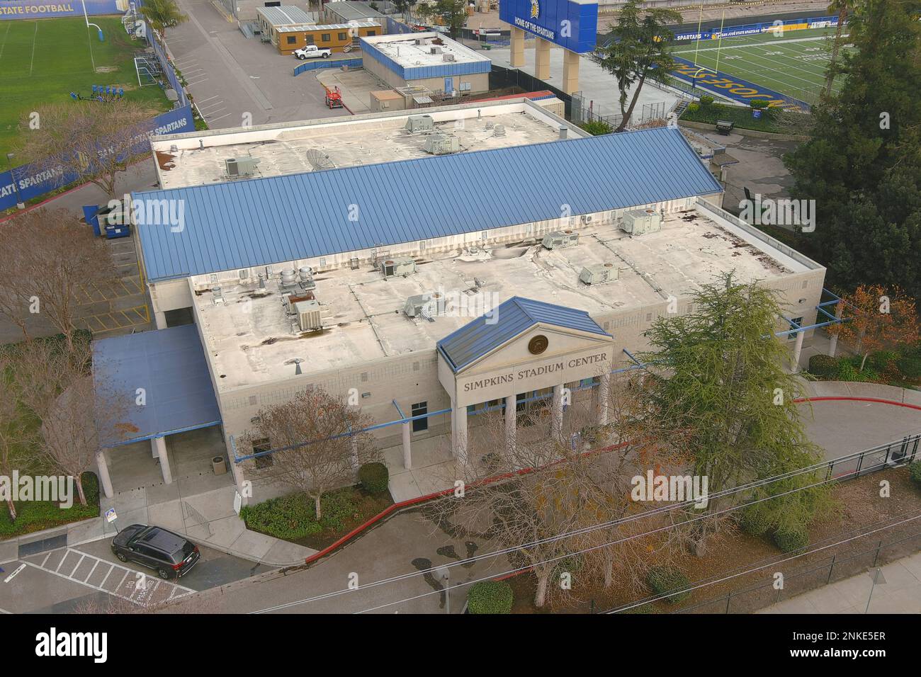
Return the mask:
<svg viewBox="0 0 921 677">
<path fill-rule="evenodd" d="M 258 38 L 247 40 L 207 0 L 179 0 L 179 5 L 189 20 L 169 29 L 167 44 L 209 127 L 349 114 L 326 107 L 315 74 L 292 75 L 294 56 L 283 56 Z"/>
</svg>

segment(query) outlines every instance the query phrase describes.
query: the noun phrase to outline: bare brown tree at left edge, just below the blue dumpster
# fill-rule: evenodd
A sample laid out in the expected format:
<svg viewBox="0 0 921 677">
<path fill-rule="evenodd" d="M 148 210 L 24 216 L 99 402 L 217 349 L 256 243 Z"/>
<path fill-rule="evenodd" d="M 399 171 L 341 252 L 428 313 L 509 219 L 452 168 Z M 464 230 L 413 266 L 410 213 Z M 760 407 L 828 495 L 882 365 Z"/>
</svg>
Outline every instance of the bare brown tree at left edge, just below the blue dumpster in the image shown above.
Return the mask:
<svg viewBox="0 0 921 677">
<path fill-rule="evenodd" d="M 64 210 L 34 210 L 8 221 L 0 236 L 9 263 L 0 266 L 0 309 L 24 323 L 37 310 L 74 343 L 81 290 L 106 288 L 118 280 L 111 250 Z M 6 290 L 6 291 L 2 291 Z M 6 313 L 5 313 L 6 314 Z M 23 332 L 25 332 L 23 327 Z"/>
</svg>

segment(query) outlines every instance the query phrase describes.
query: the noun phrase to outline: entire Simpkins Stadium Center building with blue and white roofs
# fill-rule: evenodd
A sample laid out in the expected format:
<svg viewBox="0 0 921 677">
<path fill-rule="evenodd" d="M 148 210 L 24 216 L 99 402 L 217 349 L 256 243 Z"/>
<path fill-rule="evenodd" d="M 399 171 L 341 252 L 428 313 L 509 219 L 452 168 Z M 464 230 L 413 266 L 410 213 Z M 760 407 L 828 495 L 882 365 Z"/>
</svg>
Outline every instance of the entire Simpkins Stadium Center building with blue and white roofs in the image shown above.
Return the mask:
<svg viewBox="0 0 921 677">
<path fill-rule="evenodd" d="M 799 357 L 821 265 L 721 209 L 678 128 L 589 136 L 542 103 L 155 138 L 161 189 L 133 200 L 183 224 L 136 225 L 157 331 L 94 342 L 100 384 L 146 389 L 101 455 L 107 491 L 125 445 L 169 483 L 204 429 L 228 484 L 272 485 L 238 440 L 309 387 L 358 398 L 395 499 L 434 491 L 487 407 L 510 438 L 532 405 L 560 429 L 565 388 L 603 402 L 652 322 L 728 271 L 780 292 Z"/>
</svg>

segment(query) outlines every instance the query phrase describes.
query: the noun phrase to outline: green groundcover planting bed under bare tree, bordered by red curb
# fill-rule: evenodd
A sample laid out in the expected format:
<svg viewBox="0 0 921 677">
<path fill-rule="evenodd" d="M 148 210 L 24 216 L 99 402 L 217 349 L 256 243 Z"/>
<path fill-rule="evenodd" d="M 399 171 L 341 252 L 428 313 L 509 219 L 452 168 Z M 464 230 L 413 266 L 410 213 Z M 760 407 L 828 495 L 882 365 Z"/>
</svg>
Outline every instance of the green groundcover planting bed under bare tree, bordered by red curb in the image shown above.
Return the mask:
<svg viewBox="0 0 921 677">
<path fill-rule="evenodd" d="M 356 484 L 324 494 L 319 521 L 313 499 L 306 494 L 288 494 L 245 506 L 239 516 L 247 529 L 322 550 L 392 504 L 390 492 L 369 494 Z"/>
</svg>

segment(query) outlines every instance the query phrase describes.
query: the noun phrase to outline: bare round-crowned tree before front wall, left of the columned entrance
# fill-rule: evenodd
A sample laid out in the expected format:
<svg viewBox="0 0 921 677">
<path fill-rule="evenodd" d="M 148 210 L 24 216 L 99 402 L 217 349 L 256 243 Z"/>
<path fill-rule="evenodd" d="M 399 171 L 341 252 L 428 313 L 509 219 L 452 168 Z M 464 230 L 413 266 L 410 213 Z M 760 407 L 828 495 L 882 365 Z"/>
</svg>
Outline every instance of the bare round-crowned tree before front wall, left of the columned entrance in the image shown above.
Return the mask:
<svg viewBox="0 0 921 677">
<path fill-rule="evenodd" d="M 374 438 L 361 432 L 369 425 L 358 407 L 312 388 L 262 409 L 243 439 L 251 446 L 267 440 L 278 479 L 313 498 L 320 519 L 324 493 L 354 481 L 360 464 L 380 460 Z"/>
</svg>

